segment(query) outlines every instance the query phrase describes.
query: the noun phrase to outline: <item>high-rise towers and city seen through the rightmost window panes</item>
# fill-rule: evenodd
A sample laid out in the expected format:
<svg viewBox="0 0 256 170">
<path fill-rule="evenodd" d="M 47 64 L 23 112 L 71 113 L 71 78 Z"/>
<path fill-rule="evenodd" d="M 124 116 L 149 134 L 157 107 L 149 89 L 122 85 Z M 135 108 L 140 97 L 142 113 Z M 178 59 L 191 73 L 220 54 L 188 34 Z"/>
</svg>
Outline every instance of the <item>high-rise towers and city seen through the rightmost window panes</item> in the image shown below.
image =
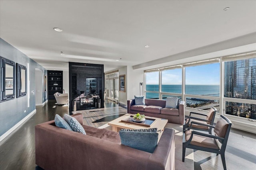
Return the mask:
<svg viewBox="0 0 256 170">
<path fill-rule="evenodd" d="M 256 100 L 256 58 L 224 63 L 224 97 Z M 226 114 L 256 119 L 256 104 L 226 102 Z"/>
</svg>

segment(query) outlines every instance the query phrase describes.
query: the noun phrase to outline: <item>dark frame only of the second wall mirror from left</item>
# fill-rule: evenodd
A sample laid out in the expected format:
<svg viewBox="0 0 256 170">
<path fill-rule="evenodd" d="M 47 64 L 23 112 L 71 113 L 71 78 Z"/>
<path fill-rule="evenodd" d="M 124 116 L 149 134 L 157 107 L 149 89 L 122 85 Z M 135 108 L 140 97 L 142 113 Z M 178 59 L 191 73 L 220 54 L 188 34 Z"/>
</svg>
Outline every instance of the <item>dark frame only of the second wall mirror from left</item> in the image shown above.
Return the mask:
<svg viewBox="0 0 256 170">
<path fill-rule="evenodd" d="M 21 81 L 21 70 L 25 70 L 25 92 L 22 90 L 22 81 Z M 17 78 L 17 98 L 26 96 L 27 94 L 27 68 L 24 65 L 16 63 L 16 78 Z"/>
</svg>

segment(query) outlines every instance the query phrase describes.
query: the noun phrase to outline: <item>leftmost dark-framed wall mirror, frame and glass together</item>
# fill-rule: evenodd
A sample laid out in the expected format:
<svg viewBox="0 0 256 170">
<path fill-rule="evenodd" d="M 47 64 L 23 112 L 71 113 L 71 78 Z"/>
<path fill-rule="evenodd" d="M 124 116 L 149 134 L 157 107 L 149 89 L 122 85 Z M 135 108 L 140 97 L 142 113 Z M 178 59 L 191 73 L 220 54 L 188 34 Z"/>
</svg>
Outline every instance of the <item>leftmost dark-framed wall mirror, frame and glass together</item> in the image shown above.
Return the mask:
<svg viewBox="0 0 256 170">
<path fill-rule="evenodd" d="M 1 100 L 4 102 L 15 98 L 15 63 L 3 57 L 1 60 Z"/>
</svg>

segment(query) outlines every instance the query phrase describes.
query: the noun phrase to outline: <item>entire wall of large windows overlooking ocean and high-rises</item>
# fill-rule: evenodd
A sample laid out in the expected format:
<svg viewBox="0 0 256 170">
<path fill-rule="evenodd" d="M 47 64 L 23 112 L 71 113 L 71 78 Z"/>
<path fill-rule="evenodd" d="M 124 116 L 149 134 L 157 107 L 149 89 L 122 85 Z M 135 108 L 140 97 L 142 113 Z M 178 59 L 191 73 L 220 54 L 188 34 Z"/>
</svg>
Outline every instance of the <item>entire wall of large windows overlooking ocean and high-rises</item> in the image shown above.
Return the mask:
<svg viewBox="0 0 256 170">
<path fill-rule="evenodd" d="M 145 70 L 144 75 L 146 98 L 178 96 L 186 111 L 207 113 L 214 106 L 234 122 L 256 128 L 250 123 L 256 120 L 255 51 Z"/>
</svg>

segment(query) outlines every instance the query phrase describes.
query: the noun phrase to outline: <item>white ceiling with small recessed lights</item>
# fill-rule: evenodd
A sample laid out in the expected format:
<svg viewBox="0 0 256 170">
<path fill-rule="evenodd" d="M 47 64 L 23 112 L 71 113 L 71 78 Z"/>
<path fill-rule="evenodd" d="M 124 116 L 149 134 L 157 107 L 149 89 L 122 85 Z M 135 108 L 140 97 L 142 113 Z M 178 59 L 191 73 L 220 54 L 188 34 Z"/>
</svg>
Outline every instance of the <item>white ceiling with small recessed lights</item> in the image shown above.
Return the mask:
<svg viewBox="0 0 256 170">
<path fill-rule="evenodd" d="M 69 61 L 150 68 L 251 33 L 255 0 L 0 1 L 0 37 L 46 69 L 67 70 Z"/>
</svg>

